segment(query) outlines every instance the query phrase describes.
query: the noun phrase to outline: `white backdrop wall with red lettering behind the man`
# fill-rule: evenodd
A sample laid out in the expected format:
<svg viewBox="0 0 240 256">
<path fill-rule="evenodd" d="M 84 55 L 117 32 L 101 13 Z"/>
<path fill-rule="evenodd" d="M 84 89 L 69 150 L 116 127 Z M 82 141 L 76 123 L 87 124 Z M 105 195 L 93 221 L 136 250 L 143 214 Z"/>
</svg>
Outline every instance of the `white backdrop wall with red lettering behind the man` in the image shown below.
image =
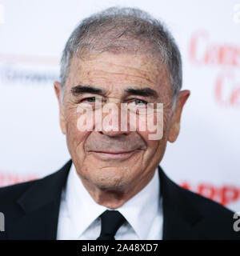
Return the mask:
<svg viewBox="0 0 240 256">
<path fill-rule="evenodd" d="M 240 210 L 239 1 L 0 0 L 0 186 L 42 178 L 69 158 L 53 82 L 74 26 L 98 10 L 138 6 L 166 23 L 191 91 L 161 162 L 175 182 Z"/>
</svg>

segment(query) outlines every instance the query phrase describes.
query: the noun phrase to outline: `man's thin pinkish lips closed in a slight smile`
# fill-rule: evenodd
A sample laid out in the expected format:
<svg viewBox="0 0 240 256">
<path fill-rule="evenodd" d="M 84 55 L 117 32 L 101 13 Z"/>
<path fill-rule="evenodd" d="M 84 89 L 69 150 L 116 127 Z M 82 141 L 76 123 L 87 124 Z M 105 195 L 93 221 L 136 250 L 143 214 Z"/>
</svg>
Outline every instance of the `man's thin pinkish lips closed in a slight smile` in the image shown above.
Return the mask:
<svg viewBox="0 0 240 256">
<path fill-rule="evenodd" d="M 130 158 L 133 154 L 138 152 L 139 150 L 132 151 L 118 151 L 118 152 L 108 152 L 108 151 L 90 151 L 90 153 L 95 154 L 97 158 L 101 158 L 102 160 L 110 160 L 110 159 L 120 159 L 125 160 Z"/>
</svg>

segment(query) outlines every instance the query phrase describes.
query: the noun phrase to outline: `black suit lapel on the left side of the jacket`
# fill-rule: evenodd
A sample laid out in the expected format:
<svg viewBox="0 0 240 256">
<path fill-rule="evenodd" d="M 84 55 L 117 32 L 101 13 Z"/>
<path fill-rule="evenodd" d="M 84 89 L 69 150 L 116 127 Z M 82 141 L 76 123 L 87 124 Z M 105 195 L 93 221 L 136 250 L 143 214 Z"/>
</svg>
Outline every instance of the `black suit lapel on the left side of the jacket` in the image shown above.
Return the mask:
<svg viewBox="0 0 240 256">
<path fill-rule="evenodd" d="M 33 182 L 18 198 L 19 215 L 10 223 L 9 239 L 56 239 L 62 188 L 71 163 L 70 160 L 54 174 Z"/>
</svg>

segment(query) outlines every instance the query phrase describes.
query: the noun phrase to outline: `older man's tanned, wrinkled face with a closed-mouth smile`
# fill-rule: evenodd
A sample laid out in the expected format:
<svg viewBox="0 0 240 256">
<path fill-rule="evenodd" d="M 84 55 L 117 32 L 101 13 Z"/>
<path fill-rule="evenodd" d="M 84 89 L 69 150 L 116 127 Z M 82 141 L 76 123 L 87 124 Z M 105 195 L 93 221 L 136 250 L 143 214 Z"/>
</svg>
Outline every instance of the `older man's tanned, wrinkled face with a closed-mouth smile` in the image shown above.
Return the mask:
<svg viewBox="0 0 240 256">
<path fill-rule="evenodd" d="M 138 190 L 137 187 L 145 186 L 162 159 L 169 131 L 176 130 L 175 122 L 180 121 L 184 104 L 180 104 L 179 118 L 174 118 L 177 121 L 173 124 L 170 122 L 171 86 L 166 66 L 143 54 L 92 54 L 89 58 L 72 60 L 64 105 L 59 99 L 59 86 L 55 82 L 62 132 L 66 134 L 67 146 L 82 182 L 103 190 Z M 141 94 L 139 89 L 147 93 Z M 92 131 L 80 130 L 78 121 L 84 113 L 79 109 L 89 108 L 94 114 L 99 111 L 99 98 L 101 106 L 116 104 L 119 113 L 120 103 L 141 107 L 146 107 L 146 103 L 163 103 L 163 137 L 150 140 L 149 135 L 153 132 L 147 126 L 142 131 L 137 125 L 136 130 L 131 131 L 129 118 L 126 131 L 121 130 L 121 118 L 117 124 L 105 123 L 102 130 L 94 130 L 97 120 L 93 118 Z M 154 120 L 156 114 L 152 116 Z M 102 113 L 102 119 L 106 115 Z M 141 115 L 137 114 L 137 123 L 139 119 Z M 114 126 L 118 129 L 114 130 Z"/>
</svg>

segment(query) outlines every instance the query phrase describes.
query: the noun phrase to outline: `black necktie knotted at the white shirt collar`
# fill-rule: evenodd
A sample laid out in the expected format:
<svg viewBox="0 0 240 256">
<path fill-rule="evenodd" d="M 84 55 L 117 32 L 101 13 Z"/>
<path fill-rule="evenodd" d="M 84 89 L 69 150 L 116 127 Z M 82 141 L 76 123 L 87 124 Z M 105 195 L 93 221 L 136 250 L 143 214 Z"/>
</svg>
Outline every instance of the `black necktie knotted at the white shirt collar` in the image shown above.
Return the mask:
<svg viewBox="0 0 240 256">
<path fill-rule="evenodd" d="M 99 217 L 101 218 L 101 233 L 96 240 L 115 240 L 114 235 L 126 222 L 126 218 L 118 210 L 106 210 Z"/>
</svg>

